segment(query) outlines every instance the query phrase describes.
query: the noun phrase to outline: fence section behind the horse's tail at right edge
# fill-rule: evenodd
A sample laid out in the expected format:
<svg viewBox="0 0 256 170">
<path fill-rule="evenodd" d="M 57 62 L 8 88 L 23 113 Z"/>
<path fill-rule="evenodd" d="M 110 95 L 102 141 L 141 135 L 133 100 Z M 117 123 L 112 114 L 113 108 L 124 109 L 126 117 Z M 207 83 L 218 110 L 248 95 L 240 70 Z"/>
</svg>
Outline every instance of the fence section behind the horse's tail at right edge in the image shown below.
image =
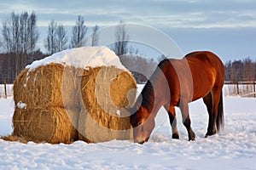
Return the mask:
<svg viewBox="0 0 256 170">
<path fill-rule="evenodd" d="M 256 98 L 256 82 L 225 82 L 226 95 Z"/>
</svg>

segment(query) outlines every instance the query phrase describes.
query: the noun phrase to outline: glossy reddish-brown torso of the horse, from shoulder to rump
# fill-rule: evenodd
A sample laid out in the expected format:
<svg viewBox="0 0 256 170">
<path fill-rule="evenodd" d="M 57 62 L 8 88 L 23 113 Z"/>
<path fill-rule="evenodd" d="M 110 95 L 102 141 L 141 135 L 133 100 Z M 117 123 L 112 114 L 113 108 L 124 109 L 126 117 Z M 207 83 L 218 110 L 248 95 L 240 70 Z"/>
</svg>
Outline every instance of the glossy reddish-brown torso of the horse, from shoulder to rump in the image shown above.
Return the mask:
<svg viewBox="0 0 256 170">
<path fill-rule="evenodd" d="M 212 52 L 198 51 L 183 59 L 164 59 L 158 68 L 169 83 L 173 103 L 179 100 L 179 96 L 189 101 L 200 99 L 212 88 L 221 89 L 224 85 L 224 65 Z"/>
</svg>

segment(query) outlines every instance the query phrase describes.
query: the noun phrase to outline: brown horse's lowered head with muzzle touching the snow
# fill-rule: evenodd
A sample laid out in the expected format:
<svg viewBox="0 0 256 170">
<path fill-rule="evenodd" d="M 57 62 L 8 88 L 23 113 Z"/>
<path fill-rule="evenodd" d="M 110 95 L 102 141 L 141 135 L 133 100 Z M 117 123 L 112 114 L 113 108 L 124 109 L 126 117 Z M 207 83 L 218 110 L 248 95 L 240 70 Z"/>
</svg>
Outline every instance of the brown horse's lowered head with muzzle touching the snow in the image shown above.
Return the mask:
<svg viewBox="0 0 256 170">
<path fill-rule="evenodd" d="M 131 115 L 131 126 L 133 127 L 134 142 L 143 144 L 148 142 L 149 136 L 154 129 L 154 118 L 142 105 Z"/>
</svg>

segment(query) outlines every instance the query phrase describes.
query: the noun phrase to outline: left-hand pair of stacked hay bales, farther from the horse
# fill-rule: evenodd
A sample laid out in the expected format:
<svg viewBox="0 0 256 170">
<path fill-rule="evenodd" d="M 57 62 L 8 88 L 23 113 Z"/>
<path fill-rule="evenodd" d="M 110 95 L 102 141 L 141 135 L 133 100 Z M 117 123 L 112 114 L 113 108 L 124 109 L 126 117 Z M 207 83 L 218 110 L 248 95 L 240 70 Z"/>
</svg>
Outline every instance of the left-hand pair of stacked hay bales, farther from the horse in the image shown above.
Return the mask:
<svg viewBox="0 0 256 170">
<path fill-rule="evenodd" d="M 52 144 L 76 140 L 79 71 L 61 64 L 21 71 L 14 83 L 13 135 Z"/>
</svg>

